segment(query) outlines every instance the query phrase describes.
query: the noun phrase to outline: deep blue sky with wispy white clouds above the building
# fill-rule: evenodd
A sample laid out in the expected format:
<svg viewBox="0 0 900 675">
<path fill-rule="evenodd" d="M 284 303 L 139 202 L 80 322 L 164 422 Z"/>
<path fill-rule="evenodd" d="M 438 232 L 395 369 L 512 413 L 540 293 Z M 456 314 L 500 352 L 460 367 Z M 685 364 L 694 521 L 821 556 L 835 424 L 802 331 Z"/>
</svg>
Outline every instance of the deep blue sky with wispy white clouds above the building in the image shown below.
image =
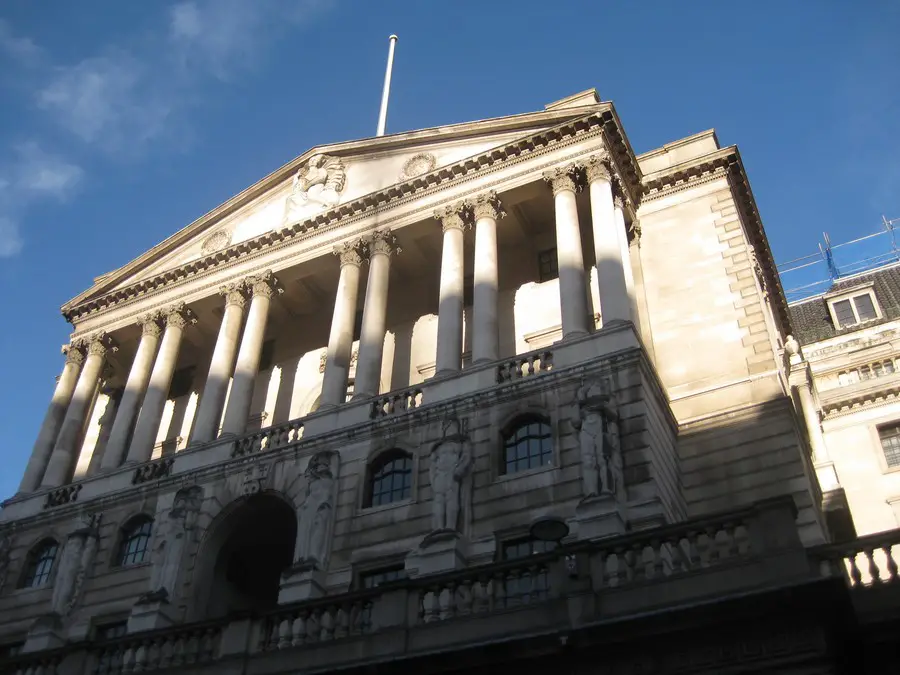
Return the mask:
<svg viewBox="0 0 900 675">
<path fill-rule="evenodd" d="M 900 217 L 892 0 L 4 0 L 0 496 L 62 368 L 59 306 L 310 146 L 371 136 L 392 32 L 389 133 L 596 87 L 637 152 L 739 145 L 779 261 Z"/>
</svg>

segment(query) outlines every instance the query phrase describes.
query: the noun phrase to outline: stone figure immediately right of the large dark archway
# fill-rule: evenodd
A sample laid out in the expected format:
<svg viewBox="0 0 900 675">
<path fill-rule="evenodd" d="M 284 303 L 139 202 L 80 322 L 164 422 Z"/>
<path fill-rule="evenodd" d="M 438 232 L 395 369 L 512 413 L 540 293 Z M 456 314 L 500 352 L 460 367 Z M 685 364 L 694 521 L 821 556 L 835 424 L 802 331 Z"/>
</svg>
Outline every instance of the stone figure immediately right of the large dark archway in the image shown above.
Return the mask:
<svg viewBox="0 0 900 675">
<path fill-rule="evenodd" d="M 297 508 L 296 566 L 324 569 L 334 519 L 336 453 L 313 455 L 306 467 L 306 491 Z"/>
</svg>

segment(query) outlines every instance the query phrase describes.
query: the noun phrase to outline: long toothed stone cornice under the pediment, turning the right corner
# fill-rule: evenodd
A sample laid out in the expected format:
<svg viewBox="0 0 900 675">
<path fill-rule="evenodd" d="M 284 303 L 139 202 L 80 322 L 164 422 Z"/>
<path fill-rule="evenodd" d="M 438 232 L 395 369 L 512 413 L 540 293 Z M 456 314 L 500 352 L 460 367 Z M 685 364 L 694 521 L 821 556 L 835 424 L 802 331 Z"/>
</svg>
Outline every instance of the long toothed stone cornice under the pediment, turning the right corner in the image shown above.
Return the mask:
<svg viewBox="0 0 900 675">
<path fill-rule="evenodd" d="M 369 193 L 346 204 L 323 211 L 303 222 L 267 232 L 253 239 L 204 256 L 199 260 L 166 270 L 149 279 L 110 291 L 78 304 L 68 303 L 62 308 L 63 316 L 74 324 L 80 319 L 103 313 L 115 306 L 147 297 L 164 288 L 204 276 L 212 270 L 220 269 L 238 260 L 246 260 L 247 256 L 255 257 L 260 253 L 301 241 L 348 221 L 358 220 L 385 208 L 393 208 L 408 201 L 413 196 L 419 198 L 436 190 L 469 180 L 483 172 L 496 169 L 500 165 L 522 161 L 533 155 L 542 154 L 565 141 L 579 138 L 590 132 L 602 134 L 604 144 L 613 159 L 619 176 L 622 178 L 625 189 L 629 192 L 633 202 L 638 204 L 640 202 L 641 183 L 637 160 L 621 129 L 612 104 L 604 105 L 606 106 L 605 109 L 594 111 L 578 119 L 569 120 L 557 127 L 531 134 L 503 147 L 493 148 L 479 155 L 438 168 L 430 173 L 392 185 L 383 190 Z"/>
</svg>

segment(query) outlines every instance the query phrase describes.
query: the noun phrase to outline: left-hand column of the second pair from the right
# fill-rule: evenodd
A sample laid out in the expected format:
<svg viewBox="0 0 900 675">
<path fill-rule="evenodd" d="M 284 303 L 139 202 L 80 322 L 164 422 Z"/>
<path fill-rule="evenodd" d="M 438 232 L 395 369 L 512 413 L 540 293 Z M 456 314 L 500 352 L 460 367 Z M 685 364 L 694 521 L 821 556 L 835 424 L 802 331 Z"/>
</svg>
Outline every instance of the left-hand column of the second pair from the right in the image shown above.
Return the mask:
<svg viewBox="0 0 900 675">
<path fill-rule="evenodd" d="M 459 372 L 462 367 L 463 237 L 469 225 L 468 206 L 453 204 L 435 211 L 434 217 L 444 231 L 435 367 L 440 377 Z"/>
</svg>

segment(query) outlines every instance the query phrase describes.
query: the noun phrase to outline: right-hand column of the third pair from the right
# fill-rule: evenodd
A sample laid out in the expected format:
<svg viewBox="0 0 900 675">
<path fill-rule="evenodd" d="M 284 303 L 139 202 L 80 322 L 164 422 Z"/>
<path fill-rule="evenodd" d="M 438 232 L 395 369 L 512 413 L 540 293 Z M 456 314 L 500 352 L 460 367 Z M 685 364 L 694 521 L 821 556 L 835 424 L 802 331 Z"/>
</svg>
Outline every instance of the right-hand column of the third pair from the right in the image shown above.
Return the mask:
<svg viewBox="0 0 900 675">
<path fill-rule="evenodd" d="M 366 286 L 353 398 L 378 394 L 381 359 L 384 354 L 391 255 L 399 252 L 397 238 L 389 229 L 375 230 L 372 233 L 369 240 L 369 281 Z"/>
</svg>

